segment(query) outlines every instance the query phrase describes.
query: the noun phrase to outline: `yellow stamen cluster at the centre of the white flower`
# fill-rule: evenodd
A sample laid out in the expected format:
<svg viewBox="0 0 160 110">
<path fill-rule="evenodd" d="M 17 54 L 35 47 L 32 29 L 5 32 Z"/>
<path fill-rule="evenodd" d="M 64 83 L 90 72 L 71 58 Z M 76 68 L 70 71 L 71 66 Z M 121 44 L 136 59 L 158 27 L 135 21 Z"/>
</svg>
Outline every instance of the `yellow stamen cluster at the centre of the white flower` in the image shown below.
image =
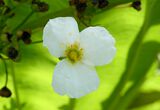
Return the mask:
<svg viewBox="0 0 160 110">
<path fill-rule="evenodd" d="M 75 63 L 81 60 L 83 56 L 83 49 L 79 48 L 79 45 L 77 43 L 74 43 L 73 45 L 67 47 L 65 55 L 69 59 L 69 61 Z"/>
</svg>

